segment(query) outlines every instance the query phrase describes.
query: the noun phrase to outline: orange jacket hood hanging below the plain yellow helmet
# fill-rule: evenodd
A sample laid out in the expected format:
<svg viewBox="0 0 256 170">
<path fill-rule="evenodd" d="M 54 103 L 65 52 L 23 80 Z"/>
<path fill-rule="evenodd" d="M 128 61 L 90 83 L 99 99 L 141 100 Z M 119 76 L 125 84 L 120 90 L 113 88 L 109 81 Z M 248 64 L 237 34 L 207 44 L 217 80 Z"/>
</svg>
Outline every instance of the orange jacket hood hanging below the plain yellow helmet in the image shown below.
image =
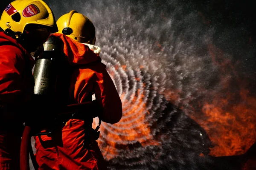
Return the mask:
<svg viewBox="0 0 256 170">
<path fill-rule="evenodd" d="M 77 42 L 61 33 L 54 33 L 64 43 L 64 54 L 67 56 L 70 65 L 88 64 L 90 62 L 101 61 L 99 54 L 94 53 L 87 44 Z M 100 48 L 99 48 L 100 49 Z"/>
</svg>

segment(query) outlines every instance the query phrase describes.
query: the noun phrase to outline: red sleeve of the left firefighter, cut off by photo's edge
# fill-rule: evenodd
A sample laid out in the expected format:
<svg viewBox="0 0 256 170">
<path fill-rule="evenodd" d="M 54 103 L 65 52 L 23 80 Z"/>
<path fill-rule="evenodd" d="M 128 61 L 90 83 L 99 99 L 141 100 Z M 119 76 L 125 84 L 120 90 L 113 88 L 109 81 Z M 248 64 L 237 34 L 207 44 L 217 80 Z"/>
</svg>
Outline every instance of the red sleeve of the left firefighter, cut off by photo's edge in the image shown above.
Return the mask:
<svg viewBox="0 0 256 170">
<path fill-rule="evenodd" d="M 25 61 L 19 48 L 12 45 L 0 46 L 0 100 L 6 104 L 25 102 L 26 85 L 23 72 Z M 32 74 L 32 73 L 31 73 Z M 25 96 L 26 95 L 26 96 Z"/>
</svg>

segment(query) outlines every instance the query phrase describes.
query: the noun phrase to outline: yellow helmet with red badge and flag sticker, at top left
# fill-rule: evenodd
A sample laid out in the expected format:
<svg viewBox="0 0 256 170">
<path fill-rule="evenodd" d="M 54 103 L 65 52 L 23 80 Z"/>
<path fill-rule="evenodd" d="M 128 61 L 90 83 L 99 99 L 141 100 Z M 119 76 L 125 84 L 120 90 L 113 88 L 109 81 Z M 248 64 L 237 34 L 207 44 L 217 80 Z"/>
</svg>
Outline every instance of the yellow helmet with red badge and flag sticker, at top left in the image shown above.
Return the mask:
<svg viewBox="0 0 256 170">
<path fill-rule="evenodd" d="M 27 25 L 44 26 L 50 32 L 58 32 L 54 14 L 43 0 L 15 0 L 6 6 L 0 19 L 0 27 L 23 34 Z"/>
</svg>

